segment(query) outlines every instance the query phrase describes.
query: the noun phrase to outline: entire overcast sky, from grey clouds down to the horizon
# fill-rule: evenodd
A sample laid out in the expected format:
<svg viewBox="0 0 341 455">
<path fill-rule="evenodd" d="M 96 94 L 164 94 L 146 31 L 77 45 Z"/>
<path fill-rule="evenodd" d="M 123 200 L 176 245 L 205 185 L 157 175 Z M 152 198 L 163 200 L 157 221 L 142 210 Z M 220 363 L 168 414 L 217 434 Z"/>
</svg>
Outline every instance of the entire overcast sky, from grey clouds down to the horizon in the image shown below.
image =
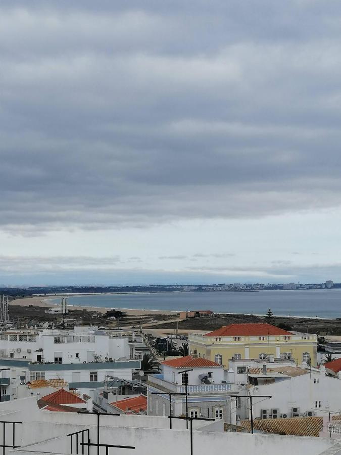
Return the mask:
<svg viewBox="0 0 341 455">
<path fill-rule="evenodd" d="M 0 283 L 341 282 L 340 26 L 2 0 Z"/>
</svg>

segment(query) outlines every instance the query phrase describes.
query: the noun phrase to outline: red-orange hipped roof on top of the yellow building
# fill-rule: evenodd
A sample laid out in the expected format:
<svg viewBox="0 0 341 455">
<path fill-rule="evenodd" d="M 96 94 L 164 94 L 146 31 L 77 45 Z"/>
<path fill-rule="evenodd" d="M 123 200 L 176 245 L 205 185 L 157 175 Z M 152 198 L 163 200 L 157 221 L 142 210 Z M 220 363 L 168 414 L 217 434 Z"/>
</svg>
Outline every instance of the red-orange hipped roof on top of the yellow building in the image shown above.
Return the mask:
<svg viewBox="0 0 341 455">
<path fill-rule="evenodd" d="M 292 335 L 286 330 L 279 327 L 271 326 L 265 323 L 256 324 L 230 324 L 221 327 L 213 332 L 207 333 L 205 337 L 234 337 L 234 336 L 253 336 L 253 335 Z"/>
</svg>

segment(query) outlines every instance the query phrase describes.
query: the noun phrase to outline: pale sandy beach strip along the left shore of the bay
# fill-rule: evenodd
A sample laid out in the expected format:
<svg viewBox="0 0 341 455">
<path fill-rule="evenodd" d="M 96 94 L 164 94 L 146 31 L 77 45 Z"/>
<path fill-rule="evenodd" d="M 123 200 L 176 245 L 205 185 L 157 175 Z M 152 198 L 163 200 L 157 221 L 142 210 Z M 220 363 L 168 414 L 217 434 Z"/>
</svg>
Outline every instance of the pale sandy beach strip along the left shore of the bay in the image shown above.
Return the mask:
<svg viewBox="0 0 341 455">
<path fill-rule="evenodd" d="M 46 298 L 46 296 L 37 296 L 37 297 L 29 297 L 27 299 L 15 299 L 10 300 L 9 305 L 18 305 L 18 306 L 42 306 L 44 308 L 53 308 L 57 307 L 58 305 L 54 305 L 51 303 L 50 300 Z M 107 307 L 100 307 L 100 306 L 82 306 L 82 305 L 69 305 L 70 309 L 75 310 L 89 310 L 89 311 L 97 311 L 99 313 L 106 313 L 110 308 Z M 139 310 L 139 309 L 126 309 L 126 308 L 115 308 L 121 311 L 124 311 L 128 315 L 132 316 L 143 316 L 143 315 L 153 315 L 153 314 L 169 314 L 174 315 L 177 314 L 177 311 L 167 311 L 167 310 Z"/>
</svg>

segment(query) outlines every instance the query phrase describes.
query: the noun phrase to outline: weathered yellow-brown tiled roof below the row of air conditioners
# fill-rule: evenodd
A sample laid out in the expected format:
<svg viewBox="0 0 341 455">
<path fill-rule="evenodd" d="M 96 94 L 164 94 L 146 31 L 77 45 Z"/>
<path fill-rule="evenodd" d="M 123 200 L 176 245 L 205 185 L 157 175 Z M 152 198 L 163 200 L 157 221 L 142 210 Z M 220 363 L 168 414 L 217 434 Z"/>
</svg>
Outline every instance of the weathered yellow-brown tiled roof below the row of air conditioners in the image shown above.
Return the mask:
<svg viewBox="0 0 341 455">
<path fill-rule="evenodd" d="M 251 431 L 250 420 L 240 421 L 240 425 Z M 322 417 L 294 417 L 293 419 L 254 420 L 254 428 L 265 433 L 287 434 L 291 436 L 318 437 L 323 427 Z"/>
</svg>

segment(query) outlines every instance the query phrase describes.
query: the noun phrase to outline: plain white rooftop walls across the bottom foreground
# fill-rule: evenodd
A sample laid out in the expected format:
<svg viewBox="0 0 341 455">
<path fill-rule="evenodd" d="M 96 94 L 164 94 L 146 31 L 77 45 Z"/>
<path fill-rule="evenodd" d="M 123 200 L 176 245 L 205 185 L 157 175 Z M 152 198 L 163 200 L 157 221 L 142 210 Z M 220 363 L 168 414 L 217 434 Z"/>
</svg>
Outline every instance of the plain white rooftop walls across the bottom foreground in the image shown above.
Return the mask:
<svg viewBox="0 0 341 455">
<path fill-rule="evenodd" d="M 33 398 L 0 404 L 6 444 L 4 455 L 76 455 L 88 453 L 81 444 L 90 440 L 89 454 L 98 453 L 98 419 L 91 414 L 44 412 L 38 409 Z M 17 422 L 13 424 L 13 422 Z M 15 435 L 13 436 L 13 425 Z M 297 437 L 274 434 L 248 434 L 224 432 L 222 420 L 193 421 L 191 432 L 185 429 L 184 420 L 173 420 L 169 428 L 167 417 L 150 416 L 101 416 L 100 454 L 107 451 L 106 445 L 125 445 L 131 448 L 108 446 L 109 454 L 163 455 L 190 453 L 191 441 L 195 455 L 210 453 L 252 453 L 253 455 L 287 455 L 287 453 L 309 453 L 309 455 L 336 454 L 341 450 L 337 439 L 321 437 Z M 13 440 L 14 437 L 14 440 Z M 15 448 L 13 448 L 15 446 Z M 84 450 L 82 450 L 84 447 Z"/>
</svg>

